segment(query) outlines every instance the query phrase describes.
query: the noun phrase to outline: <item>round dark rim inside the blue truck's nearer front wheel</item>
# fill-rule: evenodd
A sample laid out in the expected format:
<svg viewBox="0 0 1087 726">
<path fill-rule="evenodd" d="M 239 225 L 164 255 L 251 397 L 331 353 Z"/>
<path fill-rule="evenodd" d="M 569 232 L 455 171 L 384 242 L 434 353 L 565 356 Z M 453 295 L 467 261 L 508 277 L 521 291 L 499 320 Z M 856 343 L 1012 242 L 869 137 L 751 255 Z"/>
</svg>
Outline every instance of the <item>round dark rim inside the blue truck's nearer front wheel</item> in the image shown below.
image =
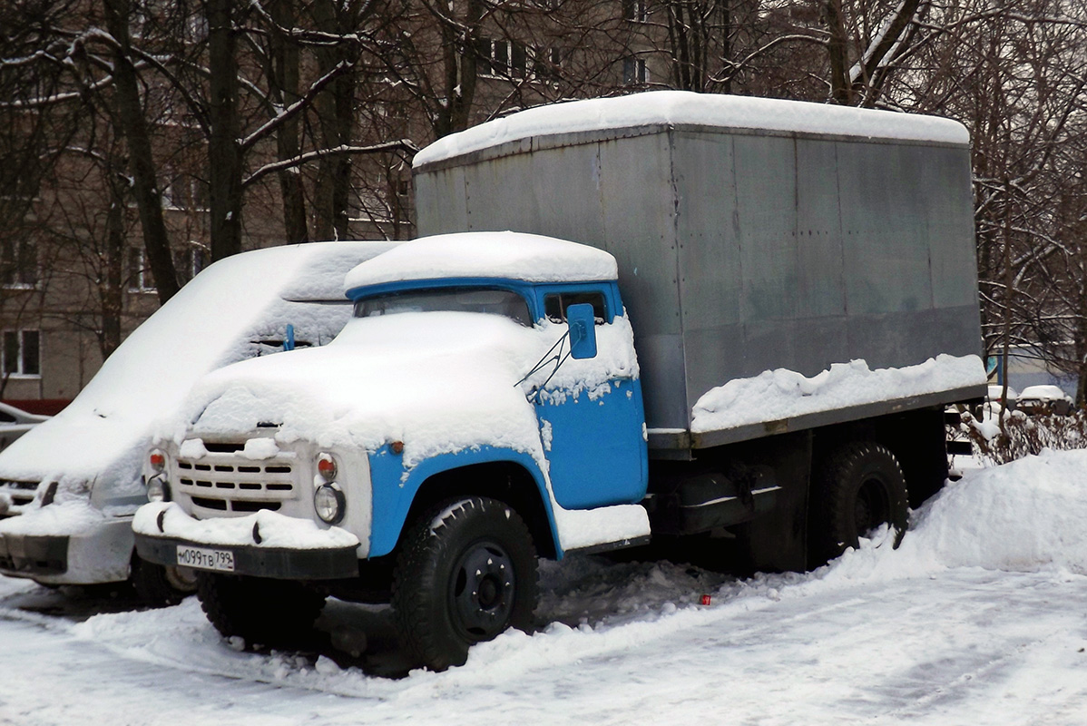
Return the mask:
<svg viewBox="0 0 1087 726">
<path fill-rule="evenodd" d="M 468 547 L 450 580 L 453 625 L 468 642 L 489 640 L 504 630 L 513 613 L 513 561 L 493 541 Z"/>
</svg>

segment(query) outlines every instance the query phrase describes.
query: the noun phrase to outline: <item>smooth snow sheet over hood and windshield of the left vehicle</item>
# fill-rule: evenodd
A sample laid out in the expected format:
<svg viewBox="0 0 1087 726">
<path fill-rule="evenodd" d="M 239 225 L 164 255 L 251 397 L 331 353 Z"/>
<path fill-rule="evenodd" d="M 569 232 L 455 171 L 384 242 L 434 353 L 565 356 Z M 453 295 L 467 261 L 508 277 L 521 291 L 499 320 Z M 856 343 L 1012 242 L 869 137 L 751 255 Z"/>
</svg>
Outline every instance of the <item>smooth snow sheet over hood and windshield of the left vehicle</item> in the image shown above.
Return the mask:
<svg viewBox="0 0 1087 726">
<path fill-rule="evenodd" d="M 153 422 L 176 411 L 211 370 L 251 354 L 253 338 L 278 337 L 291 323 L 332 339 L 350 305 L 343 273 L 388 242 L 311 242 L 238 254 L 201 272 L 128 336 L 60 414 L 0 454 L 0 477 L 125 485 L 139 478 Z"/>
</svg>

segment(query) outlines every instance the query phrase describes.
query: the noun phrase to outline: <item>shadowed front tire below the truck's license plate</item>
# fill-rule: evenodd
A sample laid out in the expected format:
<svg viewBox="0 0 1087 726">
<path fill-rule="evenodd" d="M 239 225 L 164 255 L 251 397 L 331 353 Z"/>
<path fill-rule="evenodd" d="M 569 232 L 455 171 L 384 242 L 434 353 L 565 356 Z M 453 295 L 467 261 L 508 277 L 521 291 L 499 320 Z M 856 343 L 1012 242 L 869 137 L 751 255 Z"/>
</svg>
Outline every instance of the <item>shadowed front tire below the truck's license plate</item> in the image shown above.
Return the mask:
<svg viewBox="0 0 1087 726">
<path fill-rule="evenodd" d="M 253 646 L 298 644 L 325 606 L 325 596 L 301 583 L 197 573 L 197 597 L 223 637 Z"/>
</svg>

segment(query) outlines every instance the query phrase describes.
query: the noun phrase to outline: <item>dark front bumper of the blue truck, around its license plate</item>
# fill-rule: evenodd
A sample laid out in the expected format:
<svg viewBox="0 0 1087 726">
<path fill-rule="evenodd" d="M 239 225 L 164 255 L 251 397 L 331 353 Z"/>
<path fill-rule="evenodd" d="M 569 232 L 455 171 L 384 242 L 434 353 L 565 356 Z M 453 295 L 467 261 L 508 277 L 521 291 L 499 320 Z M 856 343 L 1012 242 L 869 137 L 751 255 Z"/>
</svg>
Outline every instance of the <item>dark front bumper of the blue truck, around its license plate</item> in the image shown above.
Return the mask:
<svg viewBox="0 0 1087 726">
<path fill-rule="evenodd" d="M 136 535 L 136 552 L 148 562 L 160 565 L 177 565 L 178 547 L 229 552 L 234 555 L 233 571 L 209 571 L 221 574 L 293 580 L 342 579 L 359 575 L 359 555 L 354 547 L 295 550 L 237 544 L 207 544 L 172 537 Z M 199 569 L 199 567 L 196 568 Z"/>
</svg>

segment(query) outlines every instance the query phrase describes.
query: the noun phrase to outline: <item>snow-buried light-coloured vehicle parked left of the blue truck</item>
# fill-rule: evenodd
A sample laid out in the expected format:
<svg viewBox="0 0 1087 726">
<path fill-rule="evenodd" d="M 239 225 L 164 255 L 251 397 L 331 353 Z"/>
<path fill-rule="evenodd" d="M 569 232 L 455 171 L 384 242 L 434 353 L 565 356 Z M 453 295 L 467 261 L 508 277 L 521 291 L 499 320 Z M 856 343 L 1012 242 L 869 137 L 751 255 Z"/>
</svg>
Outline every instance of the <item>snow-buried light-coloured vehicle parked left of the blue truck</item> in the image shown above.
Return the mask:
<svg viewBox="0 0 1087 726">
<path fill-rule="evenodd" d="M 192 587 L 134 554 L 154 422 L 204 374 L 330 341 L 351 318 L 343 275 L 395 242 L 310 242 L 216 262 L 139 326 L 71 404 L 0 454 L 0 573 L 46 585 L 132 579 L 151 602 Z M 20 516 L 15 516 L 20 515 Z"/>
</svg>

